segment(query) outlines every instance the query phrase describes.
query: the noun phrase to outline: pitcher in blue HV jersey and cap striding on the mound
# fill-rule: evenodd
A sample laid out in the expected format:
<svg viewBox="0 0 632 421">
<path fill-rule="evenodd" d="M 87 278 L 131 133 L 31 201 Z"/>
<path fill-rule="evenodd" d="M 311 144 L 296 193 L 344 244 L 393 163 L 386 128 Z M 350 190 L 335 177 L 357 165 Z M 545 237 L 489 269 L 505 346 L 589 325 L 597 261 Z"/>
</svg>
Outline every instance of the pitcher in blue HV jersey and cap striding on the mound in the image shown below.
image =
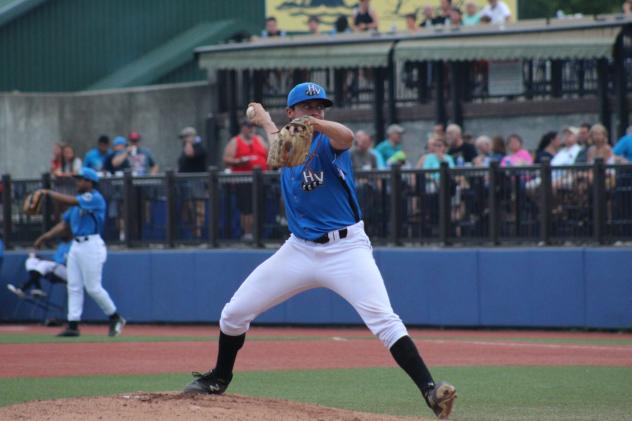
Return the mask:
<svg viewBox="0 0 632 421">
<path fill-rule="evenodd" d="M 217 362 L 196 377 L 185 392 L 221 394 L 232 380 L 237 352 L 250 322 L 267 309 L 302 291 L 329 288 L 347 300 L 412 378 L 428 406 L 447 417 L 456 398 L 454 386 L 437 383 L 423 362 L 406 327 L 393 312 L 384 281 L 373 259 L 371 242 L 356 197 L 349 148 L 352 131 L 324 119 L 332 105 L 315 83 L 295 86 L 287 98 L 290 120 L 308 116 L 314 129 L 303 165 L 281 169 L 290 238 L 259 265 L 222 310 Z M 279 131 L 257 103 L 253 123 L 271 140 Z"/>
</svg>

